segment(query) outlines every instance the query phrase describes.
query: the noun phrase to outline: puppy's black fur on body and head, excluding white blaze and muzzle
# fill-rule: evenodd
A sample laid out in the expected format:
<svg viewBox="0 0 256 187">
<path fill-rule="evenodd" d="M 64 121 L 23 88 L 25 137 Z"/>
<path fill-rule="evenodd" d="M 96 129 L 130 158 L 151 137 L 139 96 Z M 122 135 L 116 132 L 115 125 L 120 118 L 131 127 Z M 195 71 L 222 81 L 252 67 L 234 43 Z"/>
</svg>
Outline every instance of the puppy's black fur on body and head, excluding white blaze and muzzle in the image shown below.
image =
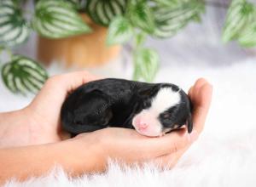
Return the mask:
<svg viewBox="0 0 256 187">
<path fill-rule="evenodd" d="M 183 90 L 171 83 L 154 84 L 115 78 L 85 83 L 70 94 L 61 108 L 61 125 L 73 135 L 104 127 L 134 128 L 131 125 L 133 116 L 150 107 L 151 99 L 164 87 L 179 90 L 181 102 L 158 116 L 163 130 L 186 124 L 190 133 L 193 127 L 192 105 Z M 164 117 L 165 114 L 169 117 Z"/>
</svg>

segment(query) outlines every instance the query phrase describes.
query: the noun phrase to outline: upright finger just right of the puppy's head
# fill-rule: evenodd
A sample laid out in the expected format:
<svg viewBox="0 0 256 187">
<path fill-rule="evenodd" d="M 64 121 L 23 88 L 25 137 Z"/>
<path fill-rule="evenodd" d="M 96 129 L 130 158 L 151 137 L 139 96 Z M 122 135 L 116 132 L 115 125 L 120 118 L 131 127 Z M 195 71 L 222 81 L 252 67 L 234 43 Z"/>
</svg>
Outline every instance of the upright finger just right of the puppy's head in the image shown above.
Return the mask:
<svg viewBox="0 0 256 187">
<path fill-rule="evenodd" d="M 199 102 L 196 103 L 193 111 L 193 123 L 195 131 L 201 133 L 212 100 L 212 86 L 210 84 L 201 86 L 196 97 Z"/>
</svg>

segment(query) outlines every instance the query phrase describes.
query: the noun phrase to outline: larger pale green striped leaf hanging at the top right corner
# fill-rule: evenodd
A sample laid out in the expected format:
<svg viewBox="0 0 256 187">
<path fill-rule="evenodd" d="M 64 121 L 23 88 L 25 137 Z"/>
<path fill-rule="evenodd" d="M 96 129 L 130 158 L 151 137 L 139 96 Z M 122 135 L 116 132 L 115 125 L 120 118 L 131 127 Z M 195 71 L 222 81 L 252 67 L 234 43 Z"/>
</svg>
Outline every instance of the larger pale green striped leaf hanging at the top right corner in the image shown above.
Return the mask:
<svg viewBox="0 0 256 187">
<path fill-rule="evenodd" d="M 224 23 L 222 41 L 236 39 L 241 31 L 253 19 L 253 4 L 245 0 L 233 0 Z"/>
</svg>

